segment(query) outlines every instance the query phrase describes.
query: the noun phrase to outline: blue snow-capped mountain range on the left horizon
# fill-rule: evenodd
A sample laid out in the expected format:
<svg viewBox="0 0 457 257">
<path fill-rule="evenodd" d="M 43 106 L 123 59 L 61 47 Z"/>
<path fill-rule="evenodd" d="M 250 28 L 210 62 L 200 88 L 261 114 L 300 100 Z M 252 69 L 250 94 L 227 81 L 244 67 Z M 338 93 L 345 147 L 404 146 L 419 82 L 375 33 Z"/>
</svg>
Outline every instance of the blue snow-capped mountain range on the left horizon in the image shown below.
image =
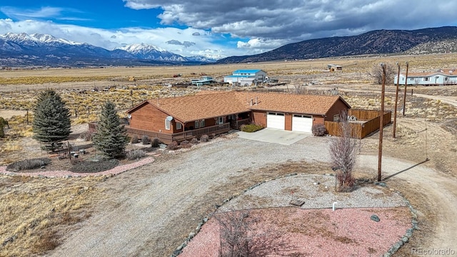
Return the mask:
<svg viewBox="0 0 457 257">
<path fill-rule="evenodd" d="M 0 35 L 0 66 L 160 65 L 214 62 L 204 56 L 187 58 L 148 44 L 112 51 L 46 34 Z"/>
</svg>

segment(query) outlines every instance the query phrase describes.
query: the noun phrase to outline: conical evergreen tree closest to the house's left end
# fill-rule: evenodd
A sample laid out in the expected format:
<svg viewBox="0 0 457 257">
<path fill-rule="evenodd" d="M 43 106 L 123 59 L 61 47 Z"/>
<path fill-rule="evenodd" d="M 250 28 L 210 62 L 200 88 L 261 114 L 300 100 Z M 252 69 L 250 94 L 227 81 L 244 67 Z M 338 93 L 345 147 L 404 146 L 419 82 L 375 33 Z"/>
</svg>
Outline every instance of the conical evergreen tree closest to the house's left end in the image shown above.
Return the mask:
<svg viewBox="0 0 457 257">
<path fill-rule="evenodd" d="M 124 151 L 129 138 L 126 135 L 125 126 L 121 123 L 116 112 L 116 106 L 107 101 L 101 107 L 97 131 L 93 138 L 97 150 L 110 158 L 124 156 Z"/>
</svg>

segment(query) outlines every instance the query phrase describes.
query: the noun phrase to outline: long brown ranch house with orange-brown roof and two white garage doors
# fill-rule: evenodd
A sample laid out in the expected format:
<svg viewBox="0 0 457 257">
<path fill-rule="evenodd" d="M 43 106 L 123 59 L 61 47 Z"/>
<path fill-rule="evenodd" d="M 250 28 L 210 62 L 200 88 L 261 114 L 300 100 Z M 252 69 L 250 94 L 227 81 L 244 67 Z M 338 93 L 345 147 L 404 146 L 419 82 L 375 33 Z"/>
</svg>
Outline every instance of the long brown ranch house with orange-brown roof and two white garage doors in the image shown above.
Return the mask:
<svg viewBox="0 0 457 257">
<path fill-rule="evenodd" d="M 338 121 L 349 106 L 340 96 L 256 92 L 204 92 L 195 96 L 151 99 L 127 111 L 131 135 L 164 143 L 204 134 L 226 133 L 243 124 L 311 133 L 314 124 Z"/>
</svg>

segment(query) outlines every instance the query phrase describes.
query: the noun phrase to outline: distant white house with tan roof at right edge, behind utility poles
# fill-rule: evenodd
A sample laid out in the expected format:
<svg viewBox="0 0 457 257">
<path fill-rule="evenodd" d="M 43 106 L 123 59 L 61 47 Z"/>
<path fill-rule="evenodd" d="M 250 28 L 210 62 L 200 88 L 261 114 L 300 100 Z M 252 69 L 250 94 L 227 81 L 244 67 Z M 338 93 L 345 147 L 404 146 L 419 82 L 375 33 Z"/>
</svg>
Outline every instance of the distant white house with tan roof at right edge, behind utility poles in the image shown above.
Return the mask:
<svg viewBox="0 0 457 257">
<path fill-rule="evenodd" d="M 399 84 L 404 85 L 406 74 L 400 74 Z M 393 84 L 397 84 L 398 76 L 393 79 Z M 408 85 L 439 86 L 457 84 L 456 69 L 441 69 L 433 72 L 408 73 Z"/>
</svg>

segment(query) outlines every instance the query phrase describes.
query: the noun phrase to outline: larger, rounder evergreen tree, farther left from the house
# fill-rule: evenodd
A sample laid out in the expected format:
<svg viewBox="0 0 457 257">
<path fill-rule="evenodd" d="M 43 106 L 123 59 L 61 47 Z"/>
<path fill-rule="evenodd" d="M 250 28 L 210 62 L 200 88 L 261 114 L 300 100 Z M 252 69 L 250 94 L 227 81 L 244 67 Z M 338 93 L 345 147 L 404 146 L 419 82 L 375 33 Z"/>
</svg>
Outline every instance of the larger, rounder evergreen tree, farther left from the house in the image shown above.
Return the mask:
<svg viewBox="0 0 457 257">
<path fill-rule="evenodd" d="M 71 133 L 69 109 L 56 91 L 48 89 L 39 94 L 34 106 L 32 129 L 33 138 L 46 143 L 46 147 L 51 151 L 55 151 L 61 141 L 69 138 Z"/>
</svg>

